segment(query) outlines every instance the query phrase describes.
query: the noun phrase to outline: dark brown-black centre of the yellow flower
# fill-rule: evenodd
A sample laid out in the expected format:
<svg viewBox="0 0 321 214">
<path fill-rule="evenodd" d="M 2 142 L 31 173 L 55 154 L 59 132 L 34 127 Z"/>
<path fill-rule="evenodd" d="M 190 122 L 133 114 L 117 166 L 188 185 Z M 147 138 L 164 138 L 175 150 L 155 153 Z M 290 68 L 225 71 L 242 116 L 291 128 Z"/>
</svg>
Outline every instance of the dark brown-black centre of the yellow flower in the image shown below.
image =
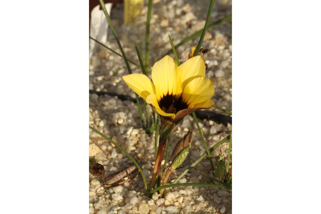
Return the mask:
<svg viewBox="0 0 321 214">
<path fill-rule="evenodd" d="M 187 108 L 187 103 L 182 99 L 181 95 L 173 95 L 167 93 L 159 101 L 160 108 L 166 113 L 176 114 L 178 111 Z"/>
</svg>

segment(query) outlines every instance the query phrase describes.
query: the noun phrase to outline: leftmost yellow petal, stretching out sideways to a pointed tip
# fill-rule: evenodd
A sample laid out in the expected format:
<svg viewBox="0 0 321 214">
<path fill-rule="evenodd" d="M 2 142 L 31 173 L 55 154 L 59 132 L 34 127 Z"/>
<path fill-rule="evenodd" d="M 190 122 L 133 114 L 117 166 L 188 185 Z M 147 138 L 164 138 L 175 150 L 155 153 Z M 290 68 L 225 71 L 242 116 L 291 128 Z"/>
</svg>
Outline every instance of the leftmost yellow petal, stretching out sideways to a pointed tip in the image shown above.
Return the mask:
<svg viewBox="0 0 321 214">
<path fill-rule="evenodd" d="M 133 91 L 145 100 L 148 95 L 155 94 L 155 87 L 146 75 L 129 74 L 123 76 L 123 80 Z"/>
</svg>

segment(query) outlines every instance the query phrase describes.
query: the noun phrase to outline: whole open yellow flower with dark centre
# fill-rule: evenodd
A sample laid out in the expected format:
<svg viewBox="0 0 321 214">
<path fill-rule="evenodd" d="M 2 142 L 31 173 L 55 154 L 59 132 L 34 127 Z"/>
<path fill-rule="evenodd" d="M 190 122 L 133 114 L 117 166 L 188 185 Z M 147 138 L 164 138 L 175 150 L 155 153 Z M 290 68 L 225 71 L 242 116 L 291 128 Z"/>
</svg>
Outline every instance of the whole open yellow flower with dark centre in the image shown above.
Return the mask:
<svg viewBox="0 0 321 214">
<path fill-rule="evenodd" d="M 153 82 L 143 74 L 126 75 L 123 80 L 159 115 L 176 124 L 184 116 L 214 104 L 211 100 L 214 83 L 205 77 L 201 56 L 190 58 L 180 66 L 165 56 L 153 66 Z"/>
</svg>

